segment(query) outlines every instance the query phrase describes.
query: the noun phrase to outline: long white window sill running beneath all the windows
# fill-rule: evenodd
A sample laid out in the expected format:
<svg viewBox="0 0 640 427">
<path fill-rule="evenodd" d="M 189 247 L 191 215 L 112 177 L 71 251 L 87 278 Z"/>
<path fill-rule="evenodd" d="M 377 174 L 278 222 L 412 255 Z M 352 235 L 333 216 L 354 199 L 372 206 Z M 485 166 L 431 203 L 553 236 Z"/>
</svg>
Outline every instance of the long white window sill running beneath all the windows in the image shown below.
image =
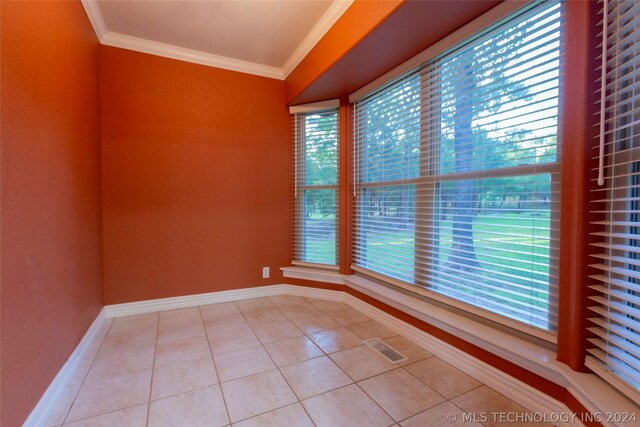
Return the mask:
<svg viewBox="0 0 640 427">
<path fill-rule="evenodd" d="M 281 270 L 284 277 L 349 286 L 566 388 L 591 412 L 637 411 L 626 397 L 598 376 L 573 371 L 558 362 L 553 350 L 449 311 L 428 299 L 412 297 L 357 275 L 304 267 Z"/>
</svg>

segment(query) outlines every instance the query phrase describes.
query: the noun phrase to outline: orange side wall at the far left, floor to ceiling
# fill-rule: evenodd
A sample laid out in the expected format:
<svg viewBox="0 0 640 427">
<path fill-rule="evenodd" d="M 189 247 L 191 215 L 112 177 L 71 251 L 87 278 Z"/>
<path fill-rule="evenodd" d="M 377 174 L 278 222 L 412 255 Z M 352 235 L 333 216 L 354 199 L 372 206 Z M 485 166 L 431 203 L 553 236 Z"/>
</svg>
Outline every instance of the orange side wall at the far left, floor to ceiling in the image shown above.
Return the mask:
<svg viewBox="0 0 640 427">
<path fill-rule="evenodd" d="M 80 2 L 0 8 L 0 424 L 14 427 L 102 306 L 99 50 Z"/>
</svg>

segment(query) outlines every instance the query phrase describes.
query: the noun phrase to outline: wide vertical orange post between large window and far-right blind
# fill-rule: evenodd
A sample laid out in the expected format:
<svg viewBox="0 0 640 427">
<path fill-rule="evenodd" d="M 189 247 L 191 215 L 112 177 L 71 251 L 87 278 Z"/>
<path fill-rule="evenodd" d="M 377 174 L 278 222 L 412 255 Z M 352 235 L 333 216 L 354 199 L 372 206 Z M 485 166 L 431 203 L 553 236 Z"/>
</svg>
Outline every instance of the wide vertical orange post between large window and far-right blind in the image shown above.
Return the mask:
<svg viewBox="0 0 640 427">
<path fill-rule="evenodd" d="M 595 2 L 566 2 L 562 103 L 562 182 L 558 361 L 587 371 L 587 283 L 589 276 L 589 173 L 595 141 Z"/>
</svg>

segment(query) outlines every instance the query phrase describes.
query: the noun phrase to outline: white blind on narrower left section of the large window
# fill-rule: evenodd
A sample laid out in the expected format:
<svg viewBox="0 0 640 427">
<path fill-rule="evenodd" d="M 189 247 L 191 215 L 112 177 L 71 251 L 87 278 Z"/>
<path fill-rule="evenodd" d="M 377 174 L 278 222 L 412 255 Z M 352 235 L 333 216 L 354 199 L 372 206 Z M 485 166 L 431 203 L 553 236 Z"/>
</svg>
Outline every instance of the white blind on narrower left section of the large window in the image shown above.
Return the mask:
<svg viewBox="0 0 640 427">
<path fill-rule="evenodd" d="M 420 76 L 355 105 L 354 264 L 414 281 Z"/>
</svg>

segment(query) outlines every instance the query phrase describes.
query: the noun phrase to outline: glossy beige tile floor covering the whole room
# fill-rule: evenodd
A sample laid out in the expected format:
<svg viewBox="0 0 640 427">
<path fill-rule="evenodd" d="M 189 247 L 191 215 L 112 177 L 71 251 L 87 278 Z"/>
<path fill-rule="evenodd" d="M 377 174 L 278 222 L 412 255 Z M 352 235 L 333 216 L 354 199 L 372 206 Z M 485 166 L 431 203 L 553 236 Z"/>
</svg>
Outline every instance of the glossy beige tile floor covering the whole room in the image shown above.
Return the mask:
<svg viewBox="0 0 640 427">
<path fill-rule="evenodd" d="M 338 302 L 281 295 L 120 317 L 99 337 L 48 426 L 472 426 L 463 412 L 526 412 Z M 374 337 L 409 360 L 363 344 Z"/>
</svg>

